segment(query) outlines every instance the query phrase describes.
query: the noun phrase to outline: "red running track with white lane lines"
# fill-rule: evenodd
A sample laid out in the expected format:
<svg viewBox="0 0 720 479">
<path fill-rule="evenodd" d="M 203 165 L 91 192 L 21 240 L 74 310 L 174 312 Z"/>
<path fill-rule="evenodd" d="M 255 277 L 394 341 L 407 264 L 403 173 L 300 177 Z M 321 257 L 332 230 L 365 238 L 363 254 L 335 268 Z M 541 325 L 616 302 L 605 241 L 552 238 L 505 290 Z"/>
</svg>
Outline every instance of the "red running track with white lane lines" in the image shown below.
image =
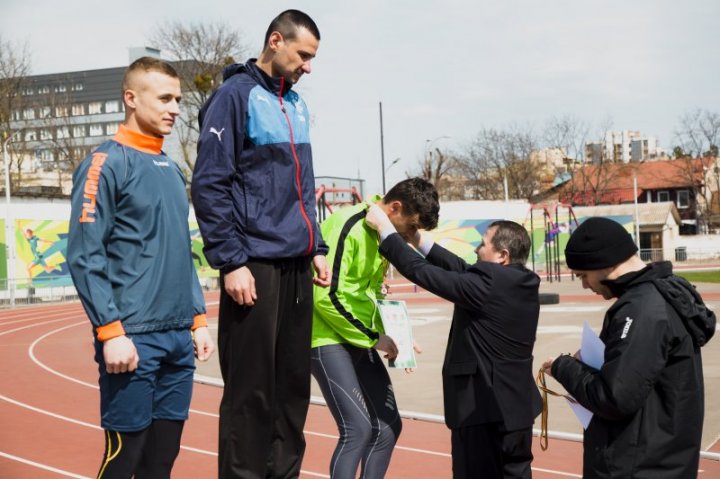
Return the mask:
<svg viewBox="0 0 720 479">
<path fill-rule="evenodd" d="M 216 317 L 217 309 L 209 311 Z M 103 449 L 92 331 L 78 303 L 0 312 L 0 479 L 94 477 Z M 173 477 L 217 477 L 221 390 L 196 384 Z M 311 406 L 301 477 L 329 477 L 337 431 L 326 408 Z M 534 476 L 581 477 L 582 446 L 535 444 Z M 444 425 L 404 421 L 389 478 L 449 478 L 450 434 Z M 700 477 L 720 477 L 702 461 Z"/>
</svg>

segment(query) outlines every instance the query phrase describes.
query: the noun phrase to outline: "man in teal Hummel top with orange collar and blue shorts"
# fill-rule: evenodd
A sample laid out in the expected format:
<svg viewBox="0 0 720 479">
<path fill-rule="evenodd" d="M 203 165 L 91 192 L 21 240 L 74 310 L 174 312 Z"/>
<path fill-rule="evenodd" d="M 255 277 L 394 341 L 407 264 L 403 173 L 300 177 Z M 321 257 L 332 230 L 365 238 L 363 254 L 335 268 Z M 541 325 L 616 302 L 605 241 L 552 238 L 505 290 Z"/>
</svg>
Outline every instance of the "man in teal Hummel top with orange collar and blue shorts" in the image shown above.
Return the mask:
<svg viewBox="0 0 720 479">
<path fill-rule="evenodd" d="M 180 450 L 193 356 L 206 360 L 214 345 L 185 179 L 161 150 L 180 113 L 177 72 L 136 60 L 123 101 L 125 123 L 73 175 L 68 265 L 96 336 L 106 431 L 98 477 L 162 479 Z"/>
</svg>

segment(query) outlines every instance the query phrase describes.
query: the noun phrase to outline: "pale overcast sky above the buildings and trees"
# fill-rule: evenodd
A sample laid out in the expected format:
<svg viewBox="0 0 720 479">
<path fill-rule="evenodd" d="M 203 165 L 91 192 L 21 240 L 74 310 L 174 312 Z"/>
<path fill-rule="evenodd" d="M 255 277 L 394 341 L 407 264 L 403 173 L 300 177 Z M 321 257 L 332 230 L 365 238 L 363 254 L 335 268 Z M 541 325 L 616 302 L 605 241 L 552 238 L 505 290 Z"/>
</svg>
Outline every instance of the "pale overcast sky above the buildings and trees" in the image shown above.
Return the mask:
<svg viewBox="0 0 720 479">
<path fill-rule="evenodd" d="M 483 127 L 574 115 L 593 131 L 640 130 L 671 149 L 678 118 L 720 110 L 718 0 L 0 0 L 0 34 L 27 41 L 33 73 L 127 65 L 166 20 L 222 21 L 253 56 L 285 8 L 322 36 L 298 90 L 313 115 L 315 174 L 388 187 L 426 140 L 462 149 Z"/>
</svg>

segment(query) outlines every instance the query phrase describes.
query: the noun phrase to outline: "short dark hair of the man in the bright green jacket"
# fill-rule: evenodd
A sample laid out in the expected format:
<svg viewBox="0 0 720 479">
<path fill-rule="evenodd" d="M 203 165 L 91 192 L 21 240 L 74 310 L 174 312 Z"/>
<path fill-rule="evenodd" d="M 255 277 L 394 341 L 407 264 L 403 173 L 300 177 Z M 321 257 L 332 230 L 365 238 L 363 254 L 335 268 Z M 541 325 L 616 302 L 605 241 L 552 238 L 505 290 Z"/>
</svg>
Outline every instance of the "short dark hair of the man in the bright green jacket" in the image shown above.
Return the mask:
<svg viewBox="0 0 720 479">
<path fill-rule="evenodd" d="M 408 178 L 390 188 L 383 197 L 383 203 L 399 201 L 403 214 L 419 215 L 420 227 L 425 230 L 437 228 L 440 201 L 435 186 L 423 178 Z"/>
</svg>

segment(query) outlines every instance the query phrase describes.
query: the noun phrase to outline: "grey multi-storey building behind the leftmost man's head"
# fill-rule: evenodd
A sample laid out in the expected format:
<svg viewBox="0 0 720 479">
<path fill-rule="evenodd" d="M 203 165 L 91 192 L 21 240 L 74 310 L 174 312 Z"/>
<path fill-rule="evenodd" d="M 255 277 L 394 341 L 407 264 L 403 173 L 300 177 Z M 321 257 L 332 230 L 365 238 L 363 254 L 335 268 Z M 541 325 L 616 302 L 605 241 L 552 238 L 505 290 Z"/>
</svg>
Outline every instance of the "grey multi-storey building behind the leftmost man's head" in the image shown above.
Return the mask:
<svg viewBox="0 0 720 479">
<path fill-rule="evenodd" d="M 152 48 L 130 49 L 129 62 L 148 55 Z M 11 132 L 21 133 L 9 145 L 12 176 L 22 179 L 20 193 L 70 193 L 75 166 L 118 131 L 125 118 L 121 83 L 126 66 L 52 73 L 27 77 L 20 101 L 11 111 Z M 164 150 L 179 150 L 169 137 Z"/>
</svg>

